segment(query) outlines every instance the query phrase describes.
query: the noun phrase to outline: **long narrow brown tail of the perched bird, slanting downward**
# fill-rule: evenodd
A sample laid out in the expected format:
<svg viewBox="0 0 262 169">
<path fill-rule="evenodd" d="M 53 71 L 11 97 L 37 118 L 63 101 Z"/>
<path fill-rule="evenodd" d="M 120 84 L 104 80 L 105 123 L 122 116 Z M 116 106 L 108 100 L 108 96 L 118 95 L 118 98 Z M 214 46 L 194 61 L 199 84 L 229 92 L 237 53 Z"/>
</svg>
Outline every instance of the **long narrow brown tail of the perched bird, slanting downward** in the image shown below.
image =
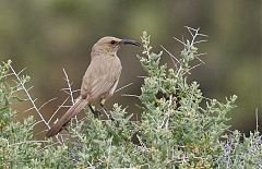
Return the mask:
<svg viewBox="0 0 262 169">
<path fill-rule="evenodd" d="M 61 119 L 47 132 L 47 137 L 57 135 L 74 116 L 76 116 L 88 104 L 86 99 L 78 99 L 76 102 L 62 116 Z"/>
</svg>

